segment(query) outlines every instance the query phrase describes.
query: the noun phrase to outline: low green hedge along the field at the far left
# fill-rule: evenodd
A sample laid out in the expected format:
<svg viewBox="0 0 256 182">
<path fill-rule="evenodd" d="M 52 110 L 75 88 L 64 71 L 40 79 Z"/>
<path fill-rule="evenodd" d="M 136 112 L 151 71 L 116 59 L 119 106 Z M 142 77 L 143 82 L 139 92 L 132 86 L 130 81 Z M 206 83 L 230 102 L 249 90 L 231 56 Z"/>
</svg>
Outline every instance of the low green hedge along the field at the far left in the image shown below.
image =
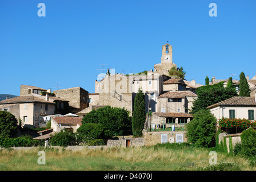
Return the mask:
<svg viewBox="0 0 256 182">
<path fill-rule="evenodd" d="M 0 147 L 31 147 L 31 146 L 43 146 L 42 140 L 35 140 L 30 135 L 22 135 L 17 138 L 3 138 L 0 137 Z"/>
</svg>

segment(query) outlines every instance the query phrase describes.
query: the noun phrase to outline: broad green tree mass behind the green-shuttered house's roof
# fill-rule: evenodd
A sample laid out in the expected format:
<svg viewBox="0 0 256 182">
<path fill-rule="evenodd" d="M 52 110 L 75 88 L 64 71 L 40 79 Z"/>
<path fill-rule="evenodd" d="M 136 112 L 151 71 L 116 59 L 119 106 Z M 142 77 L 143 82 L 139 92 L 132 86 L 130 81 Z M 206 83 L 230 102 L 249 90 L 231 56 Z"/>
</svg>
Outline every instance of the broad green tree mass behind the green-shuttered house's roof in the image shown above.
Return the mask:
<svg viewBox="0 0 256 182">
<path fill-rule="evenodd" d="M 223 82 L 214 85 L 200 86 L 196 90 L 198 98 L 194 100 L 190 113 L 196 113 L 207 106 L 237 96 L 235 88 L 223 87 Z"/>
</svg>

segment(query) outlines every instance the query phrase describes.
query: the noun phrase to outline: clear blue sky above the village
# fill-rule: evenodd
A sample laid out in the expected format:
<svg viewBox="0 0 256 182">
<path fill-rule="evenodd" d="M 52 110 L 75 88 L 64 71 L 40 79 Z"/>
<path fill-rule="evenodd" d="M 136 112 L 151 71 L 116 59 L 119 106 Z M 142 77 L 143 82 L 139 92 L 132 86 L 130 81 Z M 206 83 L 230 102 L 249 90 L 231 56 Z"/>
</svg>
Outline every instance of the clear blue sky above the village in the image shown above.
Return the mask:
<svg viewBox="0 0 256 182">
<path fill-rule="evenodd" d="M 46 16 L 39 17 L 38 3 Z M 209 16 L 210 3 L 217 17 Z M 0 94 L 21 84 L 94 93 L 106 68 L 137 73 L 161 63 L 162 45 L 186 79 L 256 73 L 256 1 L 0 1 Z"/>
</svg>

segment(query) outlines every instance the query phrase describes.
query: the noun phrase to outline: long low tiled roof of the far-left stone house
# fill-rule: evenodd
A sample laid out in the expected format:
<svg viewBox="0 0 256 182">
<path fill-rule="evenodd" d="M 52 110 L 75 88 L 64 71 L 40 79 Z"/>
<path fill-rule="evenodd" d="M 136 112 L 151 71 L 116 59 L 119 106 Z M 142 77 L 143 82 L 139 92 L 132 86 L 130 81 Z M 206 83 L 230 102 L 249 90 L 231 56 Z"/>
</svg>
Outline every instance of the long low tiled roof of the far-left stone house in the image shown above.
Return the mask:
<svg viewBox="0 0 256 182">
<path fill-rule="evenodd" d="M 33 102 L 54 104 L 54 102 L 46 101 L 42 98 L 35 97 L 33 95 L 9 98 L 7 100 L 0 101 L 0 104 L 33 103 Z"/>
</svg>

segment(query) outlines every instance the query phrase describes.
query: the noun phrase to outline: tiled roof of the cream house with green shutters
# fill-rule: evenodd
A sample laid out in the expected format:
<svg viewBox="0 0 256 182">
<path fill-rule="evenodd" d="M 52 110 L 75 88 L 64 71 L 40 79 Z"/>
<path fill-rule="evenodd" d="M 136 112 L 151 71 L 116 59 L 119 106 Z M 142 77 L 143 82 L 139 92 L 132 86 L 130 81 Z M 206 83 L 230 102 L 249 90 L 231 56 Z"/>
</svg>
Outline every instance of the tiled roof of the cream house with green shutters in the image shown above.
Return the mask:
<svg viewBox="0 0 256 182">
<path fill-rule="evenodd" d="M 225 101 L 208 106 L 211 109 L 218 106 L 256 106 L 255 97 L 231 97 Z"/>
</svg>

